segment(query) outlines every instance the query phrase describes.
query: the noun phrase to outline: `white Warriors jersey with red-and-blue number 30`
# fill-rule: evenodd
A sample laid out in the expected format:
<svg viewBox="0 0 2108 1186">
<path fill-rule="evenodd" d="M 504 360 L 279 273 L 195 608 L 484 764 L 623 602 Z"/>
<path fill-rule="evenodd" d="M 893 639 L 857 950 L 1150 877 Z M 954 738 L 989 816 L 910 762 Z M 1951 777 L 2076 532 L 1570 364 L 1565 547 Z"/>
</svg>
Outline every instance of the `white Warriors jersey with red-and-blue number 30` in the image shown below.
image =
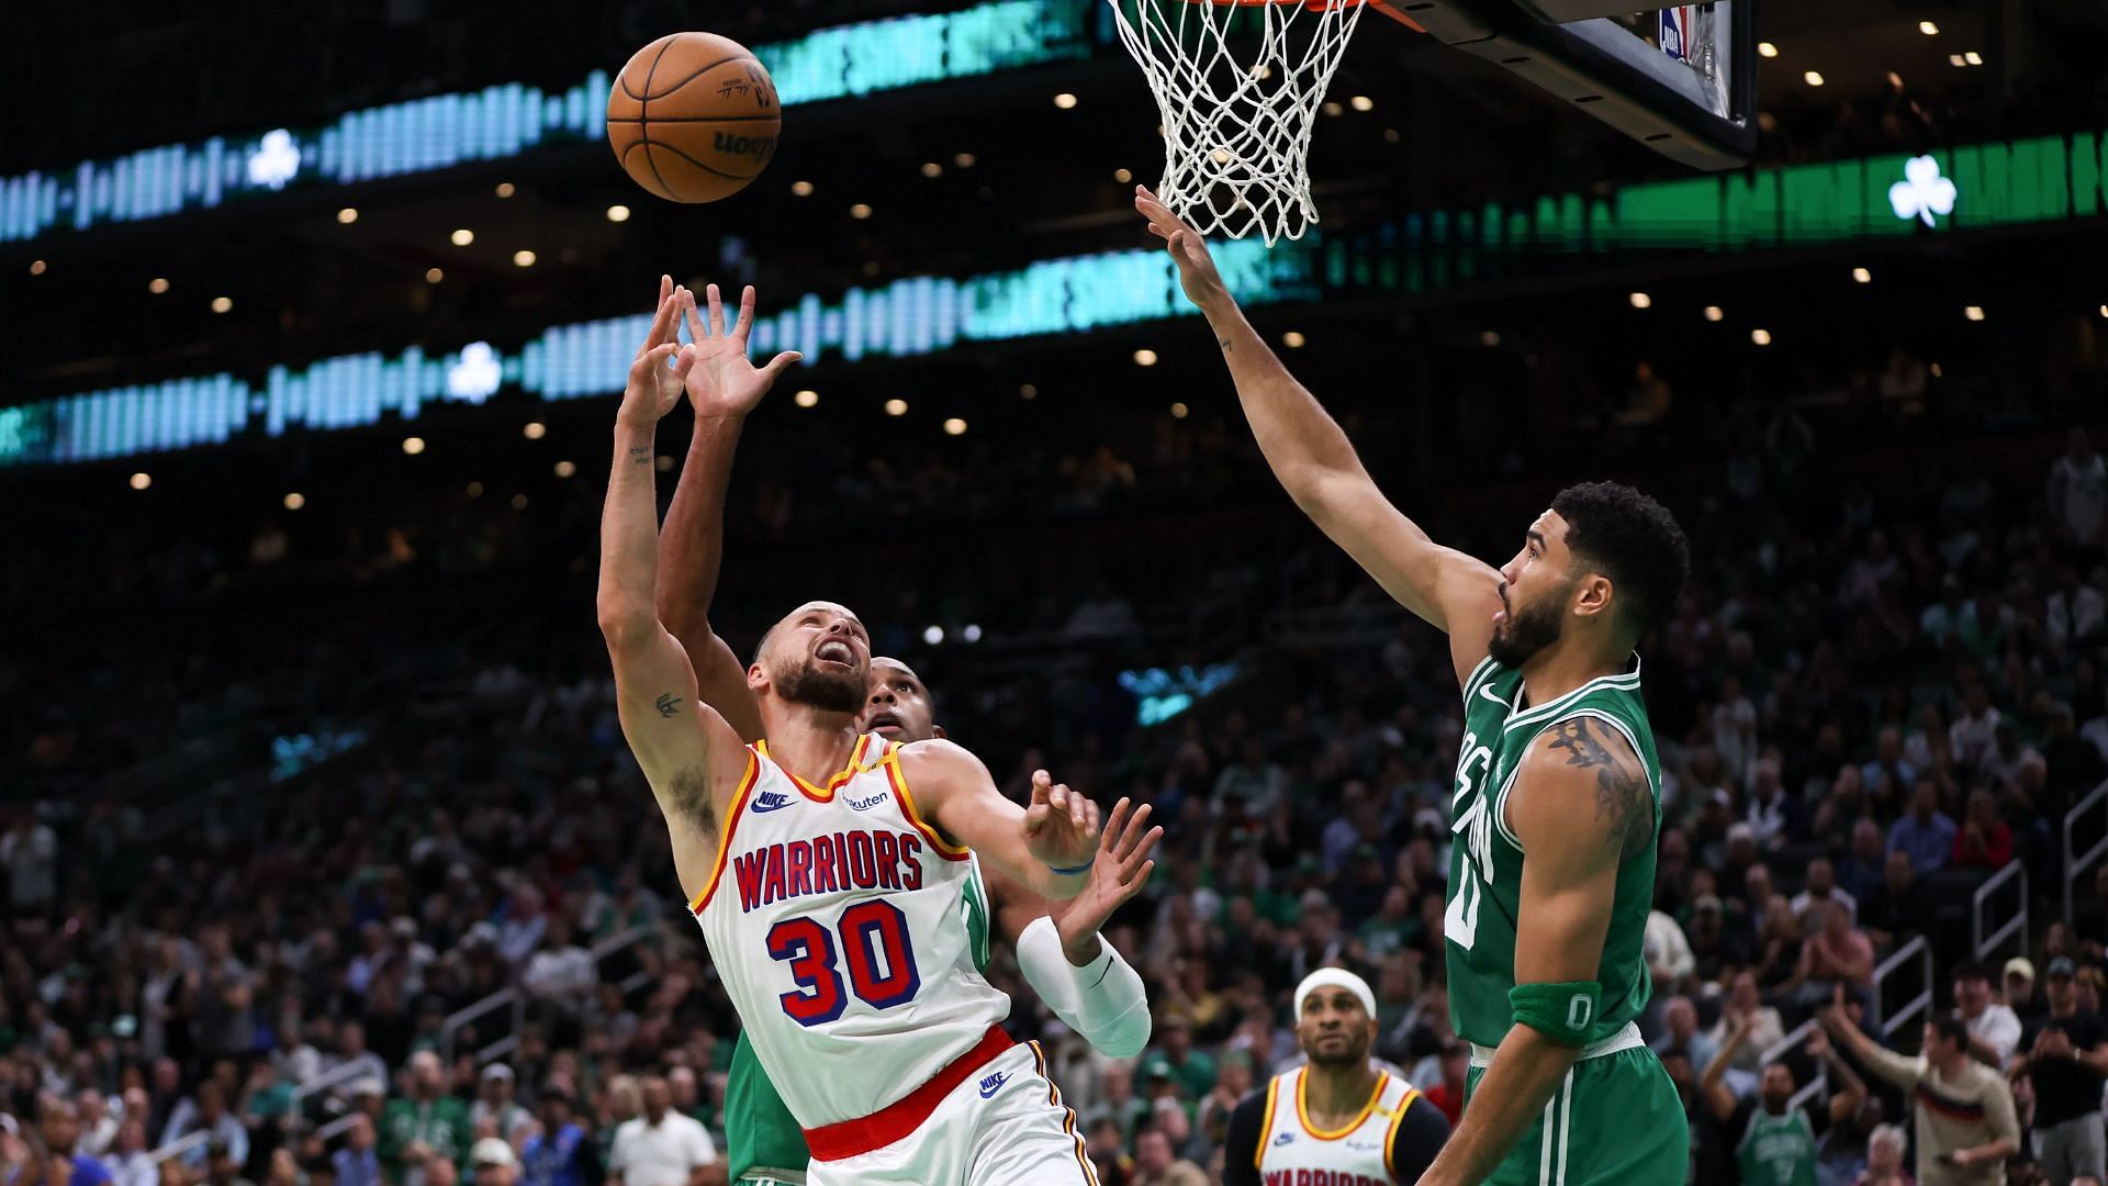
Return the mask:
<svg viewBox="0 0 2108 1186">
<path fill-rule="evenodd" d="M 961 926 L 974 861 L 915 810 L 900 747 L 864 734 L 816 787 L 767 741 L 691 910 L 746 1038 L 801 1127 L 868 1116 L 1010 1015 Z"/>
</svg>

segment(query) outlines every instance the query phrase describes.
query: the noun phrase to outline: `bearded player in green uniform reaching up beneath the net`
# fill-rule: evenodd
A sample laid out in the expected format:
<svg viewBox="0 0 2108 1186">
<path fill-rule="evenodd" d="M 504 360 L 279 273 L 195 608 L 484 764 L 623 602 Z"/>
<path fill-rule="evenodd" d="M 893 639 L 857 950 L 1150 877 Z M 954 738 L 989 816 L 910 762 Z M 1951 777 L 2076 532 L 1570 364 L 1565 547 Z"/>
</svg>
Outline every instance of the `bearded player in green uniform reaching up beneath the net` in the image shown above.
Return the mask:
<svg viewBox="0 0 2108 1186">
<path fill-rule="evenodd" d="M 1134 205 L 1208 317 L 1296 506 L 1448 633 L 1465 732 L 1444 939 L 1471 1072 L 1463 1121 L 1421 1184 L 1682 1182 L 1682 1102 L 1636 1026 L 1661 770 L 1634 654 L 1682 589 L 1682 530 L 1629 487 L 1587 483 L 1560 492 L 1501 570 L 1436 544 L 1244 319 L 1199 234 L 1147 188 Z"/>
</svg>

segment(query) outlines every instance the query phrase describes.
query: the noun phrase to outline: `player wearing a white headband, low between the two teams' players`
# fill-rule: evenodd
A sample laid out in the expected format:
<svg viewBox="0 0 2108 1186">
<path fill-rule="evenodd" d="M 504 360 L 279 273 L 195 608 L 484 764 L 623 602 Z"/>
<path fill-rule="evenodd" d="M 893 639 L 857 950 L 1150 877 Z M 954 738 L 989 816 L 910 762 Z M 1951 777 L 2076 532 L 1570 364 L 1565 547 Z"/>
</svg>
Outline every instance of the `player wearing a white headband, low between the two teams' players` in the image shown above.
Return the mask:
<svg viewBox="0 0 2108 1186">
<path fill-rule="evenodd" d="M 1296 986 L 1296 1042 L 1309 1061 L 1275 1074 L 1229 1114 L 1223 1186 L 1391 1186 L 1419 1182 L 1448 1116 L 1377 1068 L 1377 994 L 1345 969 Z"/>
</svg>

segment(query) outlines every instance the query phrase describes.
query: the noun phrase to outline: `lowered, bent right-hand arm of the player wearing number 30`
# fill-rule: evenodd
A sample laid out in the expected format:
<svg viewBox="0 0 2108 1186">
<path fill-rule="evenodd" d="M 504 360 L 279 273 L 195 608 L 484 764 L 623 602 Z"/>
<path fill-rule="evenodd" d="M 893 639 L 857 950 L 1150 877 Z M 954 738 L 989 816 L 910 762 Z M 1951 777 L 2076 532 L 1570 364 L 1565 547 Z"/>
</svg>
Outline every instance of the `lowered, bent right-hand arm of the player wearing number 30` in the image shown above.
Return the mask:
<svg viewBox="0 0 2108 1186">
<path fill-rule="evenodd" d="M 1037 770 L 1033 802 L 1020 808 L 995 789 L 980 758 L 942 739 L 900 747 L 898 762 L 938 834 L 1039 897 L 1069 901 L 1084 893 L 1098 848 L 1098 804 L 1088 796 Z"/>
</svg>

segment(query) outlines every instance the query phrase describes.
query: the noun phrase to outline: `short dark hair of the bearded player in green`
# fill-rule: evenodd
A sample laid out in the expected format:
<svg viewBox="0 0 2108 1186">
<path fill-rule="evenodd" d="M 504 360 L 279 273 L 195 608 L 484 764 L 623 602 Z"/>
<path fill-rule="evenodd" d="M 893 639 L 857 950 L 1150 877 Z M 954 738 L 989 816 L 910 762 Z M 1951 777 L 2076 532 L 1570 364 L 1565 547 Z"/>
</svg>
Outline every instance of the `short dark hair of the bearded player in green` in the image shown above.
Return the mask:
<svg viewBox="0 0 2108 1186">
<path fill-rule="evenodd" d="M 1670 620 L 1691 574 L 1691 544 L 1667 506 L 1617 481 L 1568 485 L 1551 500 L 1575 559 L 1617 589 L 1619 618 L 1640 633 Z"/>
</svg>

